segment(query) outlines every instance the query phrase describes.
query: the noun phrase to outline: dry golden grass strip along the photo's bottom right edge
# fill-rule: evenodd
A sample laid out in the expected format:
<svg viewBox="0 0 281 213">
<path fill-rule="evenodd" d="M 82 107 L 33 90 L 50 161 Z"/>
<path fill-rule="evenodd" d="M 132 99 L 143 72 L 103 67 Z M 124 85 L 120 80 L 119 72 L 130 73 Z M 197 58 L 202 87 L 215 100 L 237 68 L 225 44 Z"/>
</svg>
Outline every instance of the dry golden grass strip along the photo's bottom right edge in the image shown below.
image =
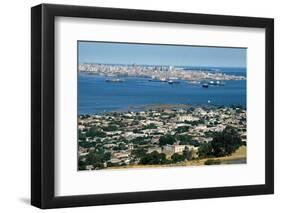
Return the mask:
<svg viewBox="0 0 281 213">
<path fill-rule="evenodd" d="M 232 155 L 226 157 L 218 158 L 205 158 L 198 160 L 184 161 L 180 163 L 167 164 L 167 165 L 128 165 L 128 166 L 118 166 L 118 167 L 108 167 L 107 169 L 127 169 L 127 168 L 155 168 L 155 167 L 176 167 L 176 166 L 202 166 L 208 159 L 220 160 L 221 164 L 239 164 L 237 162 L 246 162 L 247 158 L 247 147 L 241 146 Z M 241 164 L 241 163 L 240 163 Z"/>
</svg>

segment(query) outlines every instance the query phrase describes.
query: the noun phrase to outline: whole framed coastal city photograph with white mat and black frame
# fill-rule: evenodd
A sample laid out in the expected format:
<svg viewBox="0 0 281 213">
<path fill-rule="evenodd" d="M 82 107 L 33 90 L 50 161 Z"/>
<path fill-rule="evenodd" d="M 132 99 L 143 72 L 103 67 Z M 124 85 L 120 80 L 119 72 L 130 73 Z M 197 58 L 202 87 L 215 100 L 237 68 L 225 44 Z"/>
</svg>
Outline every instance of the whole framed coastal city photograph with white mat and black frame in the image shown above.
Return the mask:
<svg viewBox="0 0 281 213">
<path fill-rule="evenodd" d="M 31 203 L 274 192 L 274 21 L 31 9 Z"/>
</svg>

